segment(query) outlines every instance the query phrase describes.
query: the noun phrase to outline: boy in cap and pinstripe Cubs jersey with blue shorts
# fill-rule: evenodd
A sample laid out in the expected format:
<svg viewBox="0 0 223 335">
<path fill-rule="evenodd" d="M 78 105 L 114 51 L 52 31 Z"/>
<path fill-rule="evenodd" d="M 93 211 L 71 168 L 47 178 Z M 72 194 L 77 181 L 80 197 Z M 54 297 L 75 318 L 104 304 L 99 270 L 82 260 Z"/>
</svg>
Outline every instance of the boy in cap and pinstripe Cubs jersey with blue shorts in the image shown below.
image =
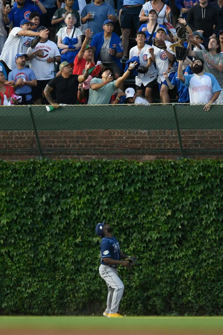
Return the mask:
<svg viewBox="0 0 223 335">
<path fill-rule="evenodd" d="M 159 85 L 159 91 L 160 91 L 160 99 L 161 103 L 169 103 L 170 97 L 168 94 L 169 86 L 166 82 L 164 76 L 162 75 L 163 72 L 166 72 L 168 69 L 170 61 L 173 61 L 175 58 L 175 54 L 173 51 L 169 48 L 171 45 L 171 42 L 166 41 L 166 30 L 162 27 L 158 27 L 156 29 L 156 38 L 161 39 L 164 42 L 163 49 L 157 48 L 153 46 L 152 48 L 149 48 L 149 52 L 151 54 L 151 58 L 153 63 L 156 64 L 156 71 L 158 73 L 158 85 Z M 171 71 L 168 73 L 168 78 L 171 81 L 174 73 L 177 71 L 176 63 L 172 65 Z"/>
</svg>

